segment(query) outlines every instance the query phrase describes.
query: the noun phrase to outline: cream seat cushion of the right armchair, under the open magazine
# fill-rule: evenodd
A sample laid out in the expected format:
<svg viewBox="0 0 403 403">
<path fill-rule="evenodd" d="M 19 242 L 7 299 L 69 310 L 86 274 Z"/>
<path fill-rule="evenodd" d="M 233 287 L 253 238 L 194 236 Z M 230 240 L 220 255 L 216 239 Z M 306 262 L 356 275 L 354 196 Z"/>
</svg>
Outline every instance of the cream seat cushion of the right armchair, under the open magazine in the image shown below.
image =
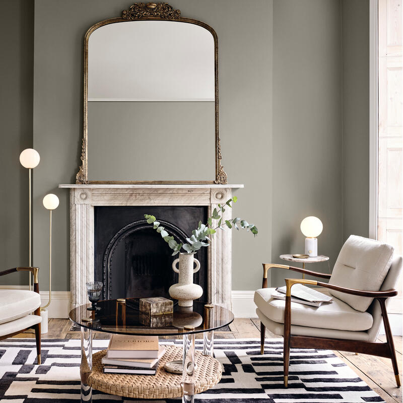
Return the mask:
<svg viewBox="0 0 403 403">
<path fill-rule="evenodd" d="M 275 288 L 262 288 L 254 294 L 259 311 L 274 322 L 284 323 L 285 301 L 272 298 Z M 372 326 L 372 315 L 354 310 L 350 305 L 334 298 L 329 303 L 314 307 L 298 302 L 291 303 L 291 324 L 325 329 L 360 331 Z"/>
</svg>

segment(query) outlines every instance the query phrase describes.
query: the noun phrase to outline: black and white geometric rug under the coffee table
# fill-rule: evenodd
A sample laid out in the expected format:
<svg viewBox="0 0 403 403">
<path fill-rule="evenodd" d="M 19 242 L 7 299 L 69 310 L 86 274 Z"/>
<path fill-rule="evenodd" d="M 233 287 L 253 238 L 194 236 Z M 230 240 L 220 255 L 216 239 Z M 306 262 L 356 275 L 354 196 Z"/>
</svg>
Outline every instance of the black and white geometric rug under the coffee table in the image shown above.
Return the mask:
<svg viewBox="0 0 403 403">
<path fill-rule="evenodd" d="M 80 401 L 80 340 L 43 340 L 42 365 L 34 339 L 0 342 L 0 403 L 71 403 Z M 161 340 L 162 344 L 180 341 Z M 196 347 L 201 348 L 196 340 Z M 107 340 L 94 340 L 93 352 Z M 257 339 L 215 340 L 223 376 L 214 388 L 195 396 L 198 403 L 363 403 L 384 401 L 328 350 L 292 349 L 288 388 L 283 386 L 282 339 L 266 340 L 260 355 Z M 132 402 L 93 391 L 94 402 Z M 147 400 L 144 400 L 147 401 Z M 162 401 L 162 400 L 160 400 Z M 167 403 L 181 399 L 167 400 Z"/>
</svg>

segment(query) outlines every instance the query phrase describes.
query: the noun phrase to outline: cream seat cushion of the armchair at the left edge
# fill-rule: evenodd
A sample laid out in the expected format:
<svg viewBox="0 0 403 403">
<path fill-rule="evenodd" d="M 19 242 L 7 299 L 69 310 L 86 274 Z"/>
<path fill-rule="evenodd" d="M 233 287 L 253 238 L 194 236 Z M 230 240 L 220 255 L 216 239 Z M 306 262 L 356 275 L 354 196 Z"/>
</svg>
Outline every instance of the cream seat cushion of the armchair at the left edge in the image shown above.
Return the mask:
<svg viewBox="0 0 403 403">
<path fill-rule="evenodd" d="M 41 306 L 41 297 L 34 291 L 0 290 L 0 323 L 29 315 Z"/>
</svg>

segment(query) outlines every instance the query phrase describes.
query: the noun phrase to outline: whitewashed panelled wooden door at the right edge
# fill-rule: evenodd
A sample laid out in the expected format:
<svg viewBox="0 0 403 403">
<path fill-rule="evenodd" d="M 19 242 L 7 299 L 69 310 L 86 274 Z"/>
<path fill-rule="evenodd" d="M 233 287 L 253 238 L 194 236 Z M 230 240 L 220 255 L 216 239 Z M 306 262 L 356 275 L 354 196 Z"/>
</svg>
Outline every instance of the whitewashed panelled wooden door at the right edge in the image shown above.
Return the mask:
<svg viewBox="0 0 403 403">
<path fill-rule="evenodd" d="M 378 0 L 378 239 L 403 254 L 402 0 Z M 388 306 L 402 313 L 399 295 Z"/>
</svg>

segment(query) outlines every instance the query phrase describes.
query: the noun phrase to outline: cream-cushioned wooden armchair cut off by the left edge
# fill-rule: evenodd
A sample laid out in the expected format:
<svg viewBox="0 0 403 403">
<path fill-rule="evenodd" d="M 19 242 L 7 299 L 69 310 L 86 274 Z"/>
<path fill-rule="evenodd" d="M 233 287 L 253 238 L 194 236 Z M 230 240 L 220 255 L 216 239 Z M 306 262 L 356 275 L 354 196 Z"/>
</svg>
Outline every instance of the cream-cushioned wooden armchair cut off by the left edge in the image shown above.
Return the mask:
<svg viewBox="0 0 403 403">
<path fill-rule="evenodd" d="M 15 272 L 31 272 L 34 291 L 0 290 L 0 340 L 33 328 L 35 330 L 37 363 L 41 363 L 41 298 L 38 267 L 14 267 L 0 272 L 0 276 Z M 33 313 L 33 314 L 32 314 Z"/>
</svg>

